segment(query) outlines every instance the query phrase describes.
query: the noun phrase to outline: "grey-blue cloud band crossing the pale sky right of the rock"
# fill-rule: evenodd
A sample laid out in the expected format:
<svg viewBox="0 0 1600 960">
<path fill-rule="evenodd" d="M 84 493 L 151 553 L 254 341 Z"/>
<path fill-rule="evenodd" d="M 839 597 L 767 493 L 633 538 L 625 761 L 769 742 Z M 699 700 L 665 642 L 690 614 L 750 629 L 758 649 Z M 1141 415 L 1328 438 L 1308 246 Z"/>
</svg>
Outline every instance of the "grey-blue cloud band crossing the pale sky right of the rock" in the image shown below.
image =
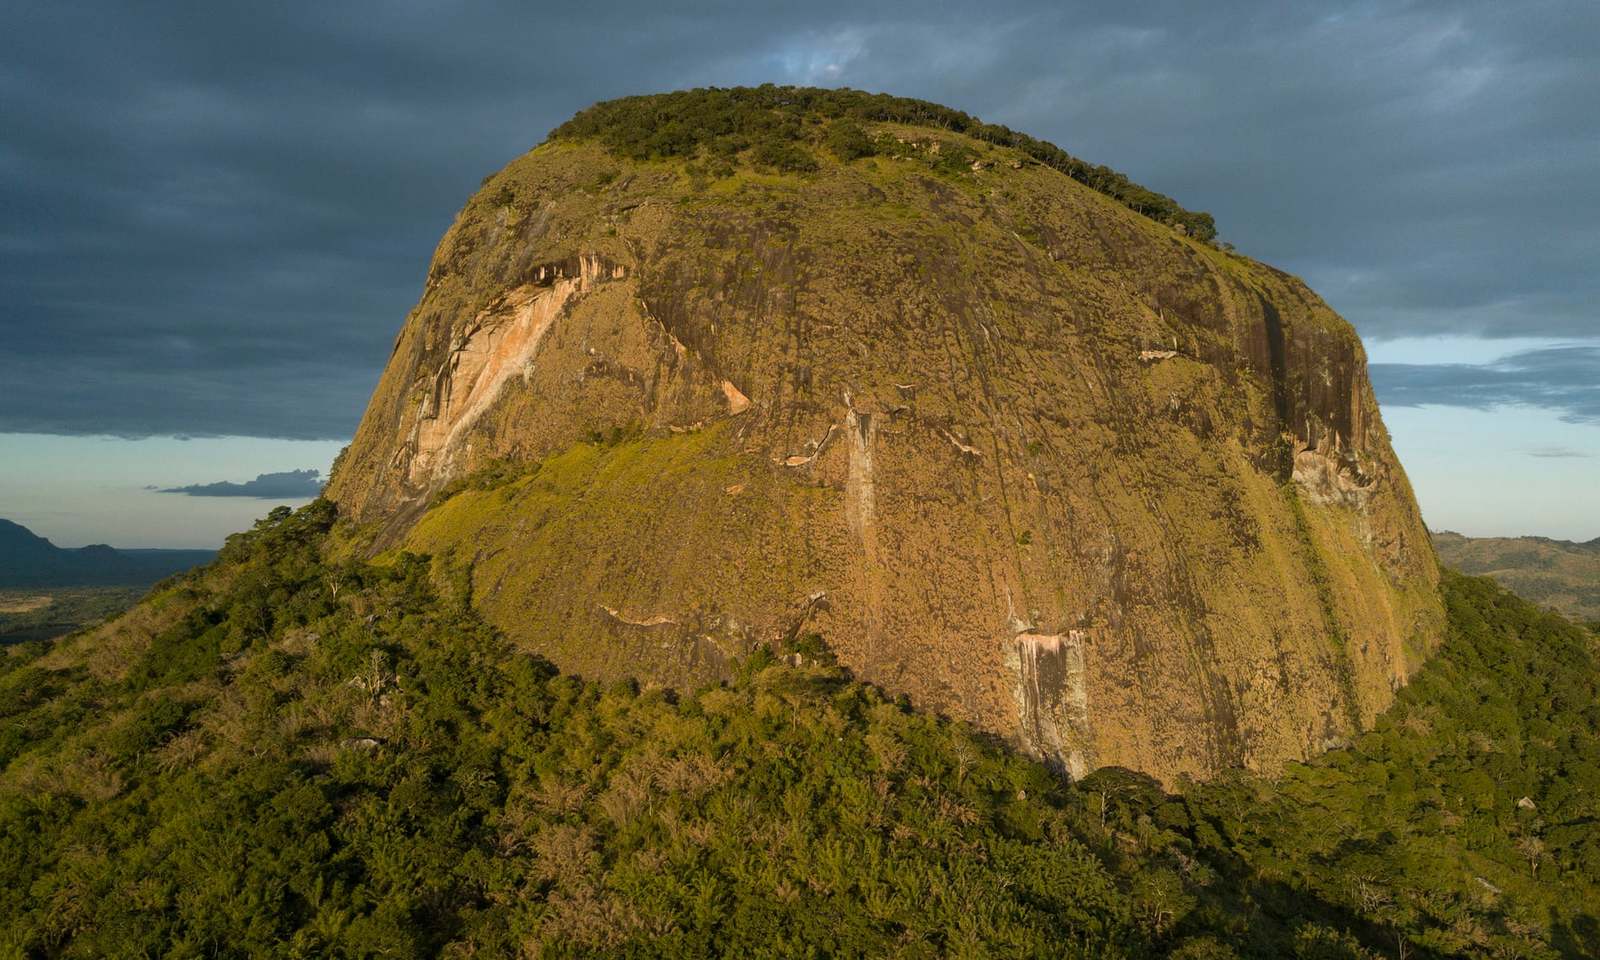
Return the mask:
<svg viewBox="0 0 1600 960">
<path fill-rule="evenodd" d="M 1494 363 L 1373 363 L 1389 406 L 1544 406 L 1574 424 L 1600 424 L 1600 347 L 1522 350 Z M 1571 456 L 1534 451 L 1533 456 Z"/>
</svg>

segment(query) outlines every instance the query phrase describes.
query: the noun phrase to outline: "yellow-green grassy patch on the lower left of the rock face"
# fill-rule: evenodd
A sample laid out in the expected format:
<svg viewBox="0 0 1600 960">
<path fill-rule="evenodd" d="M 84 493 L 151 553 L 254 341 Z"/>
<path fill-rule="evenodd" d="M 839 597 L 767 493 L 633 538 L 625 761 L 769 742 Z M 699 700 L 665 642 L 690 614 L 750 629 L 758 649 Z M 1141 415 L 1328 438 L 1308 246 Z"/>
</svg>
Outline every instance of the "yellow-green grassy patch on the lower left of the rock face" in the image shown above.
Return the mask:
<svg viewBox="0 0 1600 960">
<path fill-rule="evenodd" d="M 728 432 L 722 424 L 690 434 L 578 443 L 541 462 L 512 467 L 498 482 L 469 480 L 467 490 L 440 498 L 422 515 L 405 546 L 450 563 L 470 562 L 474 603 L 485 618 L 514 622 L 514 638 L 538 638 L 534 650 L 573 672 L 616 678 L 621 664 L 632 664 L 622 669 L 693 685 L 696 664 L 682 658 L 699 658 L 701 666 L 707 658 L 726 662 L 749 653 L 750 643 L 706 622 L 694 648 L 669 656 L 661 646 L 680 648 L 666 643 L 672 635 L 613 622 L 616 616 L 650 621 L 664 616 L 662 610 L 682 616 L 642 589 L 651 581 L 629 558 L 669 558 L 664 566 L 675 578 L 656 589 L 691 598 L 691 610 L 715 610 L 728 592 L 730 557 L 749 546 L 752 530 L 765 528 L 760 520 L 789 509 L 800 514 L 790 526 L 803 530 L 806 510 L 837 509 L 838 498 L 819 486 L 774 496 L 768 486 L 787 482 L 770 470 L 752 470 L 749 456 L 730 450 Z M 728 494 L 730 488 L 738 493 Z M 717 501 L 731 506 L 683 509 Z M 782 610 L 794 600 L 792 584 L 805 582 L 811 547 L 798 534 L 792 542 L 758 546 L 768 562 L 739 589 Z M 530 603 L 530 595 L 555 602 Z M 570 629 L 565 611 L 584 618 L 586 629 Z M 678 626 L 664 622 L 662 629 L 675 634 Z M 608 642 L 587 640 L 608 630 Z"/>
</svg>

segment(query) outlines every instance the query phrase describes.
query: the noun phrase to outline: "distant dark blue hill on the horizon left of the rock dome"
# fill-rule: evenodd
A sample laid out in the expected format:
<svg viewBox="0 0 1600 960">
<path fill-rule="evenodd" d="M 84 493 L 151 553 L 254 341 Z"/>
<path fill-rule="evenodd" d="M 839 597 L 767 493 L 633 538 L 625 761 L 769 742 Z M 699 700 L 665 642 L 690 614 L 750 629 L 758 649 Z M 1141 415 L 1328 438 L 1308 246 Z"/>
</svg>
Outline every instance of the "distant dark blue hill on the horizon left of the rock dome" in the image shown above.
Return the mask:
<svg viewBox="0 0 1600 960">
<path fill-rule="evenodd" d="M 106 544 L 69 550 L 21 523 L 0 520 L 0 587 L 154 584 L 213 557 L 216 550 L 118 550 Z"/>
</svg>

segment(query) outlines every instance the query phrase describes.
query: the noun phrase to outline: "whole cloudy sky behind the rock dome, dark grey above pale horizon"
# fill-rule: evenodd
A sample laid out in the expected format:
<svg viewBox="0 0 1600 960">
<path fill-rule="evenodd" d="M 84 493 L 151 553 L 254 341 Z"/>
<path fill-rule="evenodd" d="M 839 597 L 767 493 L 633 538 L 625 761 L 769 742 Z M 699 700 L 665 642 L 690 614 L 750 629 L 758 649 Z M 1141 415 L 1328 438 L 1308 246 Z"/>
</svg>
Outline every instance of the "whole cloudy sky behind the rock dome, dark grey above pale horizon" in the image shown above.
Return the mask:
<svg viewBox="0 0 1600 960">
<path fill-rule="evenodd" d="M 483 174 L 605 98 L 939 101 L 1210 210 L 1368 342 L 1427 522 L 1600 536 L 1600 3 L 0 10 L 0 517 L 214 546 L 326 470 Z"/>
</svg>

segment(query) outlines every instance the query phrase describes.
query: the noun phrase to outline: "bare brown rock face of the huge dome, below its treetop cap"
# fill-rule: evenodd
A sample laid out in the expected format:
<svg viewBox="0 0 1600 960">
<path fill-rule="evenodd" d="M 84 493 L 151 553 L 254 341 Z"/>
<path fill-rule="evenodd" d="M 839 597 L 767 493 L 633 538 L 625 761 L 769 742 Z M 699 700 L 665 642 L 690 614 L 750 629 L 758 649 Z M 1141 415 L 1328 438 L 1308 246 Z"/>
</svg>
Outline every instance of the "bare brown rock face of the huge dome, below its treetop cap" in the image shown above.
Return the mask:
<svg viewBox="0 0 1600 960">
<path fill-rule="evenodd" d="M 1013 149 L 867 133 L 803 174 L 555 139 L 490 178 L 330 486 L 347 536 L 470 566 L 563 669 L 816 632 L 1074 774 L 1370 723 L 1443 616 L 1350 326 Z"/>
</svg>

